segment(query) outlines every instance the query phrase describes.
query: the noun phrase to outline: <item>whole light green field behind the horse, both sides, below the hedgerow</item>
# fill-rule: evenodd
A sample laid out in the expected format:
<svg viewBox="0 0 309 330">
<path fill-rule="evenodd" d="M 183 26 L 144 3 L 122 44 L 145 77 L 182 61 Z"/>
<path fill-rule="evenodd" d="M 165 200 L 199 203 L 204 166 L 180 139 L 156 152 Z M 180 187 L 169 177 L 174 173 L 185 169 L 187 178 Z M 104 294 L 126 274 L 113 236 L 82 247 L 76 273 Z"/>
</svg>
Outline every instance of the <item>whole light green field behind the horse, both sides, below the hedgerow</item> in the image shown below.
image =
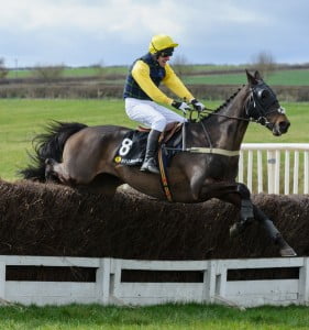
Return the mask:
<svg viewBox="0 0 309 330">
<path fill-rule="evenodd" d="M 206 101 L 216 108 L 220 101 Z M 304 142 L 309 143 L 309 103 L 283 103 L 291 120 L 288 134 L 275 138 L 265 128 L 251 124 L 244 142 Z M 29 162 L 26 151 L 32 139 L 44 131 L 51 120 L 77 121 L 89 125 L 118 124 L 136 127 L 125 114 L 122 100 L 0 100 L 0 177 L 16 179 L 16 170 Z"/>
</svg>

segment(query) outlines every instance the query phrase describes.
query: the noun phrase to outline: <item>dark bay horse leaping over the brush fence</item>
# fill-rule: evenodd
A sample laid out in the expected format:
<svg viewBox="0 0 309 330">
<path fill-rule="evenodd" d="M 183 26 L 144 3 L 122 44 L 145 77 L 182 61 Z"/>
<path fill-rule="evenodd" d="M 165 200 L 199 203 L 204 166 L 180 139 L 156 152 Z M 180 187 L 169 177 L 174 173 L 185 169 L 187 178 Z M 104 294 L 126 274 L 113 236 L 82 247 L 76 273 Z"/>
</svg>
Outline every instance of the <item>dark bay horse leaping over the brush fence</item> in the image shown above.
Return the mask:
<svg viewBox="0 0 309 330">
<path fill-rule="evenodd" d="M 239 151 L 251 121 L 282 135 L 290 125 L 274 91 L 256 72 L 246 72 L 247 84 L 219 109 L 200 114 L 186 124 L 186 150 L 177 153 L 167 167 L 169 189 L 176 202 L 202 202 L 218 198 L 240 209 L 231 234 L 244 231 L 253 220 L 266 230 L 282 256 L 295 256 L 273 221 L 251 201 L 244 184 L 235 182 Z M 26 179 L 52 178 L 64 185 L 99 189 L 113 195 L 126 183 L 136 190 L 165 200 L 159 175 L 141 172 L 137 166 L 114 162 L 123 138 L 130 131 L 117 125 L 87 127 L 57 123 L 37 136 L 34 164 L 21 170 Z"/>
</svg>

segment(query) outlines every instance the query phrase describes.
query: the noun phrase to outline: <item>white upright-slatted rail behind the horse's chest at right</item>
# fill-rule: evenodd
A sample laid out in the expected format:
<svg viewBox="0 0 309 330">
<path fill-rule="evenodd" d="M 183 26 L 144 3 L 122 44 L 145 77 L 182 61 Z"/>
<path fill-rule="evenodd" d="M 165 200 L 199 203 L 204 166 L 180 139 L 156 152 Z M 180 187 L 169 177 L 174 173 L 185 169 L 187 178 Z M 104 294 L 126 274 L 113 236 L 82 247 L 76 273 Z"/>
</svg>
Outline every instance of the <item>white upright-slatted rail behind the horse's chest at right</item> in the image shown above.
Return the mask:
<svg viewBox="0 0 309 330">
<path fill-rule="evenodd" d="M 309 143 L 243 143 L 238 180 L 252 193 L 309 194 Z"/>
</svg>

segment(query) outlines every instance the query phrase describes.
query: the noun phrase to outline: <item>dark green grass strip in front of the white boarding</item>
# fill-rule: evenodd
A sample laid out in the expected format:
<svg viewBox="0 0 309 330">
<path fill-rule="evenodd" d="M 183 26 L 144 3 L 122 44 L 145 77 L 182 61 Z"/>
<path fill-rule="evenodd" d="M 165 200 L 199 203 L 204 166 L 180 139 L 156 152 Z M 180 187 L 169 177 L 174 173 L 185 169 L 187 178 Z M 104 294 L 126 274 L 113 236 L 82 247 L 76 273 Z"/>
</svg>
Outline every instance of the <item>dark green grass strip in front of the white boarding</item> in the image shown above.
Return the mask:
<svg viewBox="0 0 309 330">
<path fill-rule="evenodd" d="M 163 305 L 140 308 L 69 305 L 2 307 L 0 329 L 308 329 L 308 307 L 261 307 L 245 311 L 216 305 Z"/>
</svg>

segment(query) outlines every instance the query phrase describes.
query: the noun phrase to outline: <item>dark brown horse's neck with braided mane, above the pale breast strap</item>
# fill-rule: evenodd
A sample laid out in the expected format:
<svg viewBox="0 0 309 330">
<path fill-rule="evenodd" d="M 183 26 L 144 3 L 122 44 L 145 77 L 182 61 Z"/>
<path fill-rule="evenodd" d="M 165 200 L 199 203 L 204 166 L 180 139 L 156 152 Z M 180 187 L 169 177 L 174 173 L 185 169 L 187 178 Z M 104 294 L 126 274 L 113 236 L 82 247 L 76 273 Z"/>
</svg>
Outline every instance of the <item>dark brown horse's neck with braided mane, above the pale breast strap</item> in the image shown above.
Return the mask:
<svg viewBox="0 0 309 330">
<path fill-rule="evenodd" d="M 209 124 L 207 123 L 208 120 L 205 120 L 213 147 L 225 150 L 240 148 L 249 122 L 244 120 L 229 119 L 227 117 L 239 119 L 245 118 L 245 102 L 247 96 L 249 87 L 244 86 L 232 100 L 230 100 L 220 110 L 216 111 L 216 114 L 218 116 L 211 116 Z"/>
</svg>

